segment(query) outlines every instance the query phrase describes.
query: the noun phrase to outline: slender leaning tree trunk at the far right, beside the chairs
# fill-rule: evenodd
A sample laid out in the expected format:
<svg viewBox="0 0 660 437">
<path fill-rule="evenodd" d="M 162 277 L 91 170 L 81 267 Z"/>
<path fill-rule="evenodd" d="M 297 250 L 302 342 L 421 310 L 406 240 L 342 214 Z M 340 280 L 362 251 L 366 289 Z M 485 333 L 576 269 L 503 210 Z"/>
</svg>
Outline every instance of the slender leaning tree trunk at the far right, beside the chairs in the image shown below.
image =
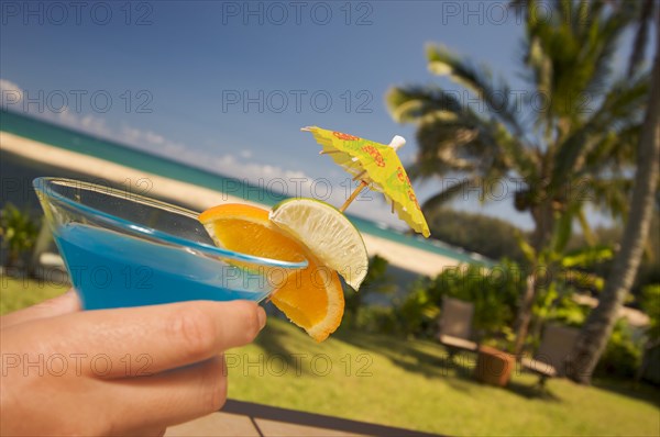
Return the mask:
<svg viewBox="0 0 660 437">
<path fill-rule="evenodd" d="M 614 258 L 598 305 L 588 315 L 566 360 L 566 376 L 579 383 L 591 383 L 592 373 L 612 334 L 618 311 L 635 281 L 651 226 L 660 171 L 660 24 L 657 29 L 651 96 L 639 141 L 637 175 L 622 246 Z"/>
</svg>

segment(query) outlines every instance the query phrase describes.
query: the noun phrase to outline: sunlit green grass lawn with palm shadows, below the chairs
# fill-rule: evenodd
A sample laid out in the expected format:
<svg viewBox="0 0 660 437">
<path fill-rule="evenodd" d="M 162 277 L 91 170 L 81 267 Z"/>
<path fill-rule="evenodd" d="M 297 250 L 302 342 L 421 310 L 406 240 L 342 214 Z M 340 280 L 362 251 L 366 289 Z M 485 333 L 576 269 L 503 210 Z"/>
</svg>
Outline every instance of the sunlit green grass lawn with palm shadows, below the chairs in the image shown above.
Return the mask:
<svg viewBox="0 0 660 437">
<path fill-rule="evenodd" d="M 3 279 L 2 312 L 63 291 Z M 657 389 L 552 380 L 540 392 L 520 372 L 506 389 L 486 386 L 472 379 L 473 359 L 450 365 L 430 341 L 344 330 L 317 344 L 271 317 L 253 345 L 226 356 L 229 395 L 242 401 L 450 435 L 660 434 Z"/>
</svg>

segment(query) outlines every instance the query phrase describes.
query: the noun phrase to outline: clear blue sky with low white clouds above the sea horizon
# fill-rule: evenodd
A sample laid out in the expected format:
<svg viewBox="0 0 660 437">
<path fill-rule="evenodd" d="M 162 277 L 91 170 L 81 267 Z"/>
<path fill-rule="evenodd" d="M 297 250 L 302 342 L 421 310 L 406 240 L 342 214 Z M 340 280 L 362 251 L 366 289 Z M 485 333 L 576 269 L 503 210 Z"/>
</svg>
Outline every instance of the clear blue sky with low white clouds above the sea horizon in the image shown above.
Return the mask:
<svg viewBox="0 0 660 437">
<path fill-rule="evenodd" d="M 426 43 L 483 60 L 522 87 L 515 69 L 522 26 L 502 3 L 54 4 L 1 5 L 3 92 L 23 92 L 15 103 L 4 93 L 6 107 L 265 186 L 327 178 L 331 203 L 344 195 L 346 177 L 299 128 L 316 124 L 382 143 L 400 134 L 408 139 L 402 159 L 411 160 L 414 127 L 392 120 L 384 94 L 393 85 L 438 80 L 426 68 Z M 315 194 L 312 182 L 306 187 Z M 437 187 L 417 186 L 418 197 Z M 454 204 L 530 226 L 510 199 L 482 208 L 473 198 Z M 395 223 L 387 210 L 352 206 Z"/>
</svg>

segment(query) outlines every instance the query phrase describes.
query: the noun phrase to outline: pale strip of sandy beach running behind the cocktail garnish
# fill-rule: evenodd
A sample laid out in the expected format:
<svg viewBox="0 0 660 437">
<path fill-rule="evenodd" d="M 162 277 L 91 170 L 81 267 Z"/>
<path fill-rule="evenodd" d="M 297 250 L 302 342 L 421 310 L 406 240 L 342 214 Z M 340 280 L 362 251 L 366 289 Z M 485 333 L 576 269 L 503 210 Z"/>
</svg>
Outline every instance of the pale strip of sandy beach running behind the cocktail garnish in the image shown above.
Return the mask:
<svg viewBox="0 0 660 437">
<path fill-rule="evenodd" d="M 47 163 L 48 166 L 123 184 L 131 192 L 168 199 L 172 202 L 182 203 L 198 211 L 229 202 L 256 204 L 208 188 L 145 172 L 94 156 L 62 149 L 8 132 L 0 132 L 0 146 L 4 153 L 16 155 L 28 160 Z M 442 269 L 459 264 L 455 259 L 443 257 L 439 254 L 409 247 L 367 233 L 363 233 L 362 235 L 371 256 L 380 255 L 386 258 L 394 267 L 417 274 L 435 276 L 442 271 Z"/>
</svg>

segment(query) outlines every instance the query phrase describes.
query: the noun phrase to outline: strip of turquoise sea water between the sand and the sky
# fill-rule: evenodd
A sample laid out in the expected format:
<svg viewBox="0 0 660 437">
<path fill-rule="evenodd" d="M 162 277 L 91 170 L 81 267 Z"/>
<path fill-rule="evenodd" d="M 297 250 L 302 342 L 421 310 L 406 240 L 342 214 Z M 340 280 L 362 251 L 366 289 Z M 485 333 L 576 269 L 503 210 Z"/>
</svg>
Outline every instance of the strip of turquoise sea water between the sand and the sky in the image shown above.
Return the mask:
<svg viewBox="0 0 660 437">
<path fill-rule="evenodd" d="M 241 197 L 245 200 L 272 206 L 285 199 L 278 193 L 267 191 L 260 187 L 250 186 L 238 179 L 227 178 L 204 169 L 190 167 L 182 163 L 154 156 L 118 143 L 111 143 L 13 112 L 0 111 L 0 128 L 2 131 L 32 138 L 41 143 L 96 156 L 112 163 L 131 166 L 143 171 L 194 183 L 199 187 L 210 188 L 228 194 L 242 194 Z M 383 228 L 369 220 L 350 214 L 346 215 L 362 233 L 386 238 L 406 246 L 417 247 L 462 262 L 487 264 L 484 259 L 477 259 L 470 254 L 461 253 L 455 248 L 442 245 L 440 242 L 424 239 L 422 237 Z"/>
</svg>

